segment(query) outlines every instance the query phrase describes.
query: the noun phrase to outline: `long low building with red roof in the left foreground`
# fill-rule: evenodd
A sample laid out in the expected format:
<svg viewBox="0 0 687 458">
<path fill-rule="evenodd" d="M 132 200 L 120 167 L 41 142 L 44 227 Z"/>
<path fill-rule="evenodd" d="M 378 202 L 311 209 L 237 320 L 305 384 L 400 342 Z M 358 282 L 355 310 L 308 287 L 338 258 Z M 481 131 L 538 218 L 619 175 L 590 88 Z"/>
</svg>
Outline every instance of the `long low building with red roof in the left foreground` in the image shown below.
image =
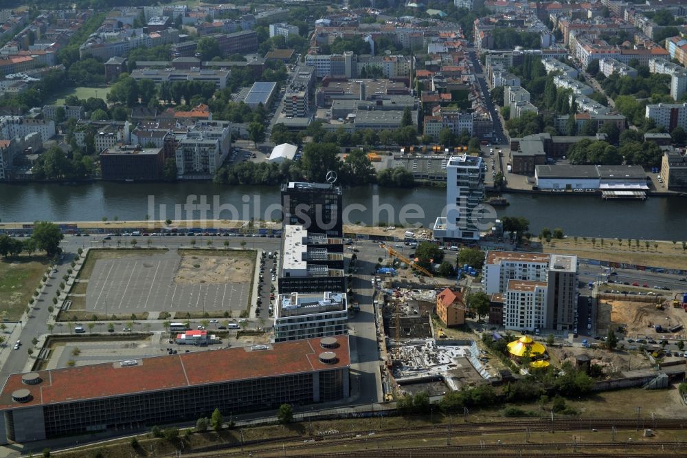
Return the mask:
<svg viewBox="0 0 687 458">
<path fill-rule="evenodd" d="M 342 335 L 13 374 L 0 443 L 340 400 L 349 368 Z"/>
</svg>

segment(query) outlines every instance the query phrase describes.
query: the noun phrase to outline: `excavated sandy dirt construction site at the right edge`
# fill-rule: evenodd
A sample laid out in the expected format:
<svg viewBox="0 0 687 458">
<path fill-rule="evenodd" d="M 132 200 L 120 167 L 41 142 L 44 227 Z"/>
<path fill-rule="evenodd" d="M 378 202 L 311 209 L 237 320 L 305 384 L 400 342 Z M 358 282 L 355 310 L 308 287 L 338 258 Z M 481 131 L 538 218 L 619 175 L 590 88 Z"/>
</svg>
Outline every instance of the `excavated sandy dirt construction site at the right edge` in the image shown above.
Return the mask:
<svg viewBox="0 0 687 458">
<path fill-rule="evenodd" d="M 606 334 L 609 325 L 617 329 L 618 325 L 627 326 L 627 336 L 663 336 L 654 330 L 655 325 L 687 325 L 687 314 L 682 308 L 664 307 L 657 309 L 655 304 L 633 301 L 608 301 L 599 303 L 597 316 L 599 334 Z M 667 318 L 667 319 L 666 319 Z M 679 334 L 684 334 L 684 329 Z M 672 334 L 671 334 L 672 335 Z"/>
</svg>

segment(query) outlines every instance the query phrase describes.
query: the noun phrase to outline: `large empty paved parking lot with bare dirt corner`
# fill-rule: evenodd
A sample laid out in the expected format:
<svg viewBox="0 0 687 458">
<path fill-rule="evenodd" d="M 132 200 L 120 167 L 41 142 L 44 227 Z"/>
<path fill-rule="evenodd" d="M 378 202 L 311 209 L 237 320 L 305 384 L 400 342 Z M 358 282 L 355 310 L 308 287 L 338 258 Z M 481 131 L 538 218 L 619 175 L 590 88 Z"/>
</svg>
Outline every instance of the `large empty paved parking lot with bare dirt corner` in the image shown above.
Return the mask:
<svg viewBox="0 0 687 458">
<path fill-rule="evenodd" d="M 254 265 L 254 252 L 234 250 L 98 259 L 88 280 L 86 309 L 107 314 L 243 310 Z"/>
</svg>

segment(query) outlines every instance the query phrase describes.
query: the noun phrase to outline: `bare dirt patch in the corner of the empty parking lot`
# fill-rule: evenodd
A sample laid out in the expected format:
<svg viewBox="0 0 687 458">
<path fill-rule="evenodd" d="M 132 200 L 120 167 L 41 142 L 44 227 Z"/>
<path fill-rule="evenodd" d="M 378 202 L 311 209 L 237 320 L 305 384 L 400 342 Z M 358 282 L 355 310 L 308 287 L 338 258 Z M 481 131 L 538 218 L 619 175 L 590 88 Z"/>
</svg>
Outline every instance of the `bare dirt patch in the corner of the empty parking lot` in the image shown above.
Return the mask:
<svg viewBox="0 0 687 458">
<path fill-rule="evenodd" d="M 184 254 L 174 282 L 180 285 L 251 282 L 255 258 L 244 253 L 236 257 Z"/>
</svg>

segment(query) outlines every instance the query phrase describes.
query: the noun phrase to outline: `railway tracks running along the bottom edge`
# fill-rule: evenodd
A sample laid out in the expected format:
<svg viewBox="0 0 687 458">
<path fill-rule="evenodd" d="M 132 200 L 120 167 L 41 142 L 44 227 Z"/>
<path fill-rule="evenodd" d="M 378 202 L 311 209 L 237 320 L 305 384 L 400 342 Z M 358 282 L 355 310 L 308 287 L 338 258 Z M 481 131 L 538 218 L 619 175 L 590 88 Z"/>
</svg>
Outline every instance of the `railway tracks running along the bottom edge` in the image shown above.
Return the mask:
<svg viewBox="0 0 687 458">
<path fill-rule="evenodd" d="M 592 418 L 579 418 L 579 419 L 556 419 L 553 420 L 548 418 L 528 418 L 528 426 L 514 426 L 517 424 L 517 420 L 510 422 L 491 422 L 491 423 L 459 423 L 451 424 L 450 437 L 452 439 L 458 439 L 461 436 L 469 435 L 484 435 L 490 433 L 541 433 L 541 432 L 556 432 L 556 431 L 577 431 L 577 430 L 611 430 L 616 428 L 618 430 L 627 429 L 667 429 L 667 430 L 682 430 L 687 429 L 687 419 L 627 419 L 627 418 L 609 418 L 609 419 L 592 419 Z M 266 441 L 251 441 L 245 443 L 245 446 L 262 446 L 260 448 L 251 448 L 251 452 L 255 456 L 260 456 L 262 454 L 275 454 L 278 452 L 286 453 L 286 450 L 291 452 L 297 451 L 307 451 L 322 446 L 335 447 L 335 446 L 348 446 L 350 444 L 365 444 L 365 447 L 374 447 L 382 443 L 387 443 L 398 439 L 427 439 L 428 437 L 449 437 L 449 425 L 442 424 L 438 426 L 425 426 L 418 428 L 394 428 L 390 430 L 383 430 L 377 433 L 348 433 L 348 434 L 338 434 L 338 435 L 328 435 L 327 437 L 300 437 L 294 439 L 289 438 L 275 438 L 268 439 Z M 658 444 L 658 445 L 657 445 Z M 451 446 L 450 452 L 455 452 L 457 448 L 462 450 L 508 450 L 509 448 L 529 449 L 529 448 L 588 448 L 589 446 L 594 447 L 605 447 L 605 448 L 627 448 L 623 442 L 603 442 L 598 444 L 567 444 L 567 443 L 550 443 L 550 444 L 489 444 L 489 445 L 466 445 L 466 446 Z M 631 444 L 632 448 L 665 448 L 666 446 L 671 447 L 672 450 L 684 450 L 687 456 L 687 442 L 635 442 Z M 228 448 L 228 447 L 226 447 Z M 206 449 L 197 450 L 196 453 L 192 455 L 203 456 L 203 457 L 245 457 L 246 452 L 244 450 L 223 450 L 218 449 Z M 388 452 L 388 448 L 386 452 Z M 403 450 L 399 448 L 394 448 L 394 450 Z M 414 450 L 411 448 L 409 450 Z M 438 451 L 438 448 L 433 447 L 432 450 Z M 384 450 L 380 450 L 384 451 Z M 343 452 L 345 453 L 345 452 Z M 349 452 L 357 453 L 357 452 Z M 302 452 L 299 456 L 306 456 Z M 313 455 L 314 456 L 314 455 Z M 655 457 L 655 454 L 651 456 Z"/>
</svg>

